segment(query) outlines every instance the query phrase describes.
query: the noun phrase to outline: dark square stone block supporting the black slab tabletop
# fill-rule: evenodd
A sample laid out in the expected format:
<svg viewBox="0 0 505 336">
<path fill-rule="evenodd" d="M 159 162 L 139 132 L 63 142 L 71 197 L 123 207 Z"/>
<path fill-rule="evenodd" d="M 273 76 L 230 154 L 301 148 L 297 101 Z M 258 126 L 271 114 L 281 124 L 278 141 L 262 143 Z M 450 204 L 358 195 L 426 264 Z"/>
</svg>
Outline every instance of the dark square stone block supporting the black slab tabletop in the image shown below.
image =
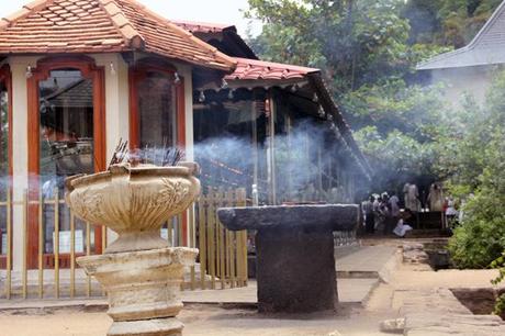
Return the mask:
<svg viewBox="0 0 505 336">
<path fill-rule="evenodd" d="M 332 232 L 260 229 L 256 247 L 260 312 L 306 313 L 336 307 Z"/>
</svg>

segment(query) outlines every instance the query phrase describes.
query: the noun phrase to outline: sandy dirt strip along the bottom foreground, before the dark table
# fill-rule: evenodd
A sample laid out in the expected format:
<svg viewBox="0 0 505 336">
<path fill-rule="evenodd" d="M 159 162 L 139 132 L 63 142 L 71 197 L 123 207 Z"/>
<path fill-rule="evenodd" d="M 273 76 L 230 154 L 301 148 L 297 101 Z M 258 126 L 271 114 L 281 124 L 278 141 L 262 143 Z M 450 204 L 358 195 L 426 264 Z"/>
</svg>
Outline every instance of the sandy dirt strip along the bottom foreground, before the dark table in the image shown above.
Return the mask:
<svg viewBox="0 0 505 336">
<path fill-rule="evenodd" d="M 180 314 L 184 335 L 383 335 L 378 323 L 388 314 L 341 307 L 336 315 L 314 316 L 258 315 L 252 310 L 227 310 L 210 305 L 190 305 Z M 0 316 L 2 336 L 97 336 L 105 335 L 111 320 L 104 313 L 55 313 L 52 315 Z M 336 332 L 340 334 L 337 334 Z"/>
</svg>

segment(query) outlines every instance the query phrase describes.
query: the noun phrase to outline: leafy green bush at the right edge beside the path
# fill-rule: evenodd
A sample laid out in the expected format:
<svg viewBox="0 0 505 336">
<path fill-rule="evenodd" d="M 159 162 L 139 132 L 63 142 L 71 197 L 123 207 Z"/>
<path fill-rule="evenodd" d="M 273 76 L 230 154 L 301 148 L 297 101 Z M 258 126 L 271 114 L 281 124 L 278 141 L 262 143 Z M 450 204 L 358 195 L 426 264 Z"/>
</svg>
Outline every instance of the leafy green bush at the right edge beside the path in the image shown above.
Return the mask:
<svg viewBox="0 0 505 336">
<path fill-rule="evenodd" d="M 447 166 L 458 167 L 452 183 L 475 193 L 449 244 L 461 268 L 489 267 L 505 250 L 505 72 L 494 78 L 479 115 L 453 137 L 453 153 L 444 154 Z"/>
</svg>

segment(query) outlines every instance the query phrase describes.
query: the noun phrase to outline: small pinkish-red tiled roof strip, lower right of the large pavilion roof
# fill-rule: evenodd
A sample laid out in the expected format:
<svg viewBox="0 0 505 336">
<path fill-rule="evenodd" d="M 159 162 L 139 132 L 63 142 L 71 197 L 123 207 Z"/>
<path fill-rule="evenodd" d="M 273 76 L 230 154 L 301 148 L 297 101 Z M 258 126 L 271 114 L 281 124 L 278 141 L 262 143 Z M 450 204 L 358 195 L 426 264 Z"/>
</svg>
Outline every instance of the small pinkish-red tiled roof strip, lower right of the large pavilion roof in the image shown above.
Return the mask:
<svg viewBox="0 0 505 336">
<path fill-rule="evenodd" d="M 319 69 L 292 66 L 265 60 L 236 58 L 235 71 L 225 77 L 226 80 L 285 80 L 302 79 L 308 74 L 319 72 Z"/>
</svg>

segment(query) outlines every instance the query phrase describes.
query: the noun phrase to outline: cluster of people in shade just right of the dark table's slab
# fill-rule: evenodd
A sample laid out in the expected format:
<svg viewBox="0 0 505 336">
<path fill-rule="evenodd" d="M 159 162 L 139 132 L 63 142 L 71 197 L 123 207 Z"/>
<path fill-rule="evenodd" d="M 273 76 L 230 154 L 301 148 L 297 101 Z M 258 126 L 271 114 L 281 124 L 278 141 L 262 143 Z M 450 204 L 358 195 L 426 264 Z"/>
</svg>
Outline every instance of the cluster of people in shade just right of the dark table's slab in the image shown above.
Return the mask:
<svg viewBox="0 0 505 336">
<path fill-rule="evenodd" d="M 412 217 L 412 212 L 400 209 L 400 199 L 393 192 L 391 197 L 388 192 L 381 195 L 372 194 L 363 202 L 364 229 L 368 234 L 383 232 L 385 235 L 391 233 L 399 237 L 404 237 L 412 229 L 406 221 Z"/>
</svg>

